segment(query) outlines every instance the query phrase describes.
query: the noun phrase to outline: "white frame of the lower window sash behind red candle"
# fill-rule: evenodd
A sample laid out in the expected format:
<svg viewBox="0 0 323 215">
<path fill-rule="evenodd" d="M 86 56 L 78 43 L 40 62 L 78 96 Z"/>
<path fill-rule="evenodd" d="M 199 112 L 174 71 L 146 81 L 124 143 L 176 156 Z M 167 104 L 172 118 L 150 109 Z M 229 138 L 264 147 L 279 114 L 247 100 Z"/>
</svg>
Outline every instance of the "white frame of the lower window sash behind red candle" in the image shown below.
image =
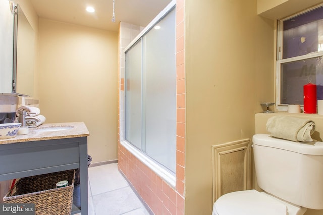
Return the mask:
<svg viewBox="0 0 323 215">
<path fill-rule="evenodd" d="M 294 61 L 298 61 L 298 60 L 314 58 L 314 57 L 320 57 L 320 56 L 323 56 L 323 52 L 314 52 L 314 53 L 309 53 L 309 54 L 302 55 L 302 56 L 291 57 L 291 58 L 276 61 L 276 109 L 278 111 L 287 111 L 288 110 L 288 105 L 280 103 L 280 101 L 281 101 L 281 67 L 282 67 L 281 64 L 288 63 L 288 62 L 294 62 Z M 301 108 L 303 109 L 303 105 L 301 105 Z"/>
</svg>

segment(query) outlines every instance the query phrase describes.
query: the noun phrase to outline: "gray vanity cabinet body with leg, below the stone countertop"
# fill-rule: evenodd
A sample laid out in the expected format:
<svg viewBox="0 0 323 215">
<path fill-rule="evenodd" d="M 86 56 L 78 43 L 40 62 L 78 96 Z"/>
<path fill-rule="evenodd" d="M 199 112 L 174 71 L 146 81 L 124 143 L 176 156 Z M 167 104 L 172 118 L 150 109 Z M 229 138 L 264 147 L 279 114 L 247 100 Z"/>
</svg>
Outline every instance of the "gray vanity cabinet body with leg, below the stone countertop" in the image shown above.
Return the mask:
<svg viewBox="0 0 323 215">
<path fill-rule="evenodd" d="M 87 137 L 0 144 L 0 181 L 80 169 L 82 215 L 87 214 Z M 72 214 L 80 209 L 73 205 Z"/>
</svg>

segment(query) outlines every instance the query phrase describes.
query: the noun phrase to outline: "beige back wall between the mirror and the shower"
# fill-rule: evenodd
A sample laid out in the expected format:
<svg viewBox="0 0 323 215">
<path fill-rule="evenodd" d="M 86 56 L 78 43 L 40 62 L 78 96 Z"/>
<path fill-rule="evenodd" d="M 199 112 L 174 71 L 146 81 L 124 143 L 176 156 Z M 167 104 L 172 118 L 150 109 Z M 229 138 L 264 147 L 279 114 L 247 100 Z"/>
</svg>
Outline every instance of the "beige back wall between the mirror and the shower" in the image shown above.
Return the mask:
<svg viewBox="0 0 323 215">
<path fill-rule="evenodd" d="M 92 163 L 117 159 L 118 33 L 40 18 L 38 46 L 46 122 L 85 122 Z"/>
</svg>

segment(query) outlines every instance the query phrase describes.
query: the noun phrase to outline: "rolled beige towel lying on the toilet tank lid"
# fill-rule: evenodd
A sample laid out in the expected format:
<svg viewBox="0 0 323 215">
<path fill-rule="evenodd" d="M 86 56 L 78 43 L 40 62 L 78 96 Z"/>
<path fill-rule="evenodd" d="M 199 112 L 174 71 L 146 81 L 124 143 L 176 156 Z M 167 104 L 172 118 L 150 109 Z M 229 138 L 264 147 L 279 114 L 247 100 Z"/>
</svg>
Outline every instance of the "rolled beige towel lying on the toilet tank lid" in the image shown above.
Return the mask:
<svg viewBox="0 0 323 215">
<path fill-rule="evenodd" d="M 267 121 L 271 136 L 295 142 L 312 142 L 315 123 L 309 119 L 289 116 L 273 116 Z"/>
</svg>

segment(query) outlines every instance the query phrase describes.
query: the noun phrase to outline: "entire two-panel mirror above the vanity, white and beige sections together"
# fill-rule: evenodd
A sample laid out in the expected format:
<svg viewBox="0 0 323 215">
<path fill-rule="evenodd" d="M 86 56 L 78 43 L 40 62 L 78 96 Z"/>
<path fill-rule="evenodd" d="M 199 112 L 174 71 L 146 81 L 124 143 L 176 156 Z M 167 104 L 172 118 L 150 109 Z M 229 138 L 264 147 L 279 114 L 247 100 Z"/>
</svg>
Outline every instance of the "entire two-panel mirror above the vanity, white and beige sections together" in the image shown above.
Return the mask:
<svg viewBox="0 0 323 215">
<path fill-rule="evenodd" d="M 33 95 L 35 33 L 20 5 L 0 1 L 0 93 Z"/>
</svg>

